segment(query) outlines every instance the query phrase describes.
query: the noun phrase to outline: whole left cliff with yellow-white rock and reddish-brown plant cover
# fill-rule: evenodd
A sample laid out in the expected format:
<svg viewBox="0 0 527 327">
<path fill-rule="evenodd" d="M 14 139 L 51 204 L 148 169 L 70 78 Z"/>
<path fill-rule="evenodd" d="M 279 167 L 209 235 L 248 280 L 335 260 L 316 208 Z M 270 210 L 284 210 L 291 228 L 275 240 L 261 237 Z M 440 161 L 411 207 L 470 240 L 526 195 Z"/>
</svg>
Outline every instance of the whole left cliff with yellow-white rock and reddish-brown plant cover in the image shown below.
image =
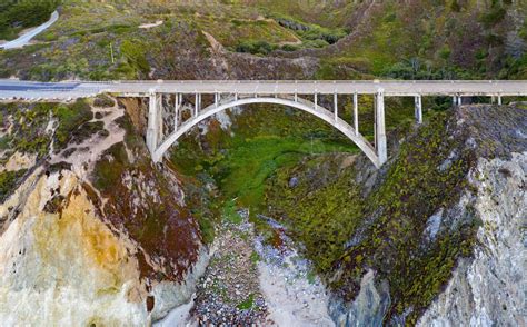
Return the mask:
<svg viewBox="0 0 527 327">
<path fill-rule="evenodd" d="M 142 326 L 186 303 L 208 258 L 199 226 L 123 108 L 0 109 L 0 319 Z"/>
</svg>

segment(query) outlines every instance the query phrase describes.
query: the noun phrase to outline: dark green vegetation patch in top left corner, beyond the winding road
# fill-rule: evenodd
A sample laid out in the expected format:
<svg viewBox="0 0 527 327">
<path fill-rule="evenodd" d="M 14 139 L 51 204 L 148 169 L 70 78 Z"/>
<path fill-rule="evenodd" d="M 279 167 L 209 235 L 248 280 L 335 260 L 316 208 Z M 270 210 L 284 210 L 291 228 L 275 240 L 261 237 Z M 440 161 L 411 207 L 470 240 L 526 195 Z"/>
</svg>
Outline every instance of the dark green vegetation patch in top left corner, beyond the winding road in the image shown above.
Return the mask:
<svg viewBox="0 0 527 327">
<path fill-rule="evenodd" d="M 26 28 L 49 20 L 61 0 L 0 0 L 0 40 L 11 40 Z"/>
</svg>

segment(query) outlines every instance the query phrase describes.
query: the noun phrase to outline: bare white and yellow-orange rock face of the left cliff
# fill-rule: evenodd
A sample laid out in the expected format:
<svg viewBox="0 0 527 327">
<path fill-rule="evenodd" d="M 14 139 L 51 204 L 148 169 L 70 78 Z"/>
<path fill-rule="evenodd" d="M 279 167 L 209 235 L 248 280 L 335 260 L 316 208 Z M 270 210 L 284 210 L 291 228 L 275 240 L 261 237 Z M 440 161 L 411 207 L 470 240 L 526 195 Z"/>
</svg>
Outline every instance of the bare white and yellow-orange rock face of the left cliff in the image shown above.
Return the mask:
<svg viewBox="0 0 527 327">
<path fill-rule="evenodd" d="M 0 321 L 148 324 L 136 249 L 100 221 L 77 177 L 42 176 L 32 188 L 0 236 Z"/>
</svg>

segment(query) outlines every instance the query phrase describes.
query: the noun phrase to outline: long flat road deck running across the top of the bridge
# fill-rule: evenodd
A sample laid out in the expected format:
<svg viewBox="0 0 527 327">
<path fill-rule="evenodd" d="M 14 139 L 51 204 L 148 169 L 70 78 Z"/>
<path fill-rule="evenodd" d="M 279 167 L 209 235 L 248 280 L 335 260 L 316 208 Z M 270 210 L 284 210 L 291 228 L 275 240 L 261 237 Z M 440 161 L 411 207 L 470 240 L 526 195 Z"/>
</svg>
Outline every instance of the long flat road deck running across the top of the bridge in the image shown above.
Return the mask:
<svg viewBox="0 0 527 327">
<path fill-rule="evenodd" d="M 31 82 L 0 79 L 0 99 L 73 99 L 100 92 L 147 96 L 155 92 L 312 95 L 376 93 L 385 96 L 527 96 L 527 81 L 109 81 Z"/>
</svg>

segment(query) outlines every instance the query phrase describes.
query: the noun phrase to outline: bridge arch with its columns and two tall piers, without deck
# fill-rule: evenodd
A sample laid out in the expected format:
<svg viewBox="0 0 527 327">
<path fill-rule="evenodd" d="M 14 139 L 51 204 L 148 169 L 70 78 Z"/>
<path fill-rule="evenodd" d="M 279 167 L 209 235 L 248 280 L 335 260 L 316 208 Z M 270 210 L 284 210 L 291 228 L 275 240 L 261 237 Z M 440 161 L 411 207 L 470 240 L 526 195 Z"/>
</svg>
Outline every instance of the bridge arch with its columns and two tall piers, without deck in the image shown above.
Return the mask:
<svg viewBox="0 0 527 327">
<path fill-rule="evenodd" d="M 147 146 L 151 152 L 152 160 L 159 162 L 162 160 L 163 155 L 177 140 L 189 131 L 192 127 L 197 126 L 205 119 L 213 116 L 215 113 L 223 110 L 252 103 L 269 103 L 269 105 L 281 105 L 290 108 L 296 108 L 306 112 L 309 112 L 319 119 L 322 119 L 334 128 L 342 132 L 348 139 L 350 139 L 357 147 L 371 160 L 371 162 L 379 168 L 387 159 L 387 141 L 386 141 L 386 125 L 385 125 L 385 102 L 384 93 L 379 90 L 375 95 L 375 142 L 371 145 L 360 132 L 359 132 L 359 120 L 358 120 L 358 95 L 350 95 L 354 98 L 354 119 L 351 123 L 348 123 L 339 117 L 338 111 L 338 97 L 334 95 L 334 108 L 329 110 L 319 103 L 318 95 L 311 95 L 312 101 L 299 97 L 298 95 L 267 95 L 267 96 L 253 96 L 253 95 L 183 95 L 176 93 L 173 96 L 175 101 L 173 108 L 169 115 L 163 115 L 166 108 L 163 108 L 163 95 L 156 93 L 149 95 L 149 112 L 148 112 L 148 130 L 147 130 Z M 211 103 L 201 109 L 202 97 L 206 96 L 209 99 L 213 98 Z M 191 117 L 182 120 L 183 111 L 183 99 L 192 98 L 192 101 L 187 101 L 187 105 L 191 105 Z M 193 102 L 193 103 L 191 103 Z M 420 100 L 419 100 L 420 103 Z M 417 100 L 416 100 L 417 106 Z M 188 110 L 188 106 L 186 107 Z M 419 109 L 420 112 L 420 109 Z M 419 113 L 420 115 L 420 113 Z M 417 113 L 416 113 L 417 116 Z M 167 123 L 163 117 L 171 117 L 173 121 Z M 419 116 L 420 117 L 420 116 Z"/>
</svg>

